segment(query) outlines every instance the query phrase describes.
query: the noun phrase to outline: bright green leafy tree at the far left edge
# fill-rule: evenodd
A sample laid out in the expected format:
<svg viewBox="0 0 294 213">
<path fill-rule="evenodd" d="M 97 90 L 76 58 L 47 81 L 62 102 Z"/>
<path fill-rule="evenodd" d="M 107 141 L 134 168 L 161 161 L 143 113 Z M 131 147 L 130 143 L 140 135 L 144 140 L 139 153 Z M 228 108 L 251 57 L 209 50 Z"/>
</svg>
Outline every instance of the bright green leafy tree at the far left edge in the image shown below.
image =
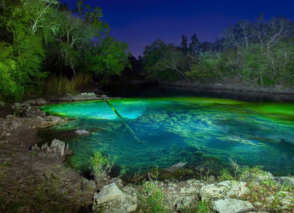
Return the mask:
<svg viewBox="0 0 294 213">
<path fill-rule="evenodd" d="M 46 40 L 44 32 L 56 27 L 48 24 L 55 12 L 52 5 L 56 4 L 59 2 L 55 0 L 1 1 L 1 38 L 6 42 L 1 41 L 0 63 L 5 67 L 3 77 L 9 82 L 1 86 L 2 95 L 18 99 L 24 86 L 40 76 L 42 40 Z"/>
</svg>

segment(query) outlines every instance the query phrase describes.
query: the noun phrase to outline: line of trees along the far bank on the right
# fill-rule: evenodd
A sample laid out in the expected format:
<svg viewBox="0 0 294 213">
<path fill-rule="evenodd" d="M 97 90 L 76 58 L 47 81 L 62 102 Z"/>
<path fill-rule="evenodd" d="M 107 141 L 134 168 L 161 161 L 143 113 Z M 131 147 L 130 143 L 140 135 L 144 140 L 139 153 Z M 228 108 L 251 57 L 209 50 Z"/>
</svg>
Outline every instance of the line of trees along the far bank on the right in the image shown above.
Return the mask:
<svg viewBox="0 0 294 213">
<path fill-rule="evenodd" d="M 240 20 L 220 32 L 215 42 L 200 42 L 194 33 L 191 43 L 185 34 L 180 46 L 157 39 L 147 45 L 142 58 L 147 78 L 203 83 L 229 80 L 257 85 L 290 86 L 294 83 L 294 23 L 284 16 L 255 22 Z"/>
</svg>

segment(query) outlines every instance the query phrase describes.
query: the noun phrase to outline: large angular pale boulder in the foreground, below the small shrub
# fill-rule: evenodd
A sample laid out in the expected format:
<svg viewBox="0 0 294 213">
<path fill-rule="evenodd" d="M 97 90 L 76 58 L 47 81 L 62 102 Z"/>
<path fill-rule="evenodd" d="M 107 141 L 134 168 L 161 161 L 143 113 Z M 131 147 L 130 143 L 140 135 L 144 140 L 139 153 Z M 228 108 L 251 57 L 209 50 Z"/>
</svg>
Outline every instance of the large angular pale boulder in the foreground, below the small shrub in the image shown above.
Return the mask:
<svg viewBox="0 0 294 213">
<path fill-rule="evenodd" d="M 118 189 L 115 183 L 104 186 L 99 193 L 94 194 L 93 199 L 93 211 L 127 213 L 137 207 L 136 201 Z"/>
</svg>

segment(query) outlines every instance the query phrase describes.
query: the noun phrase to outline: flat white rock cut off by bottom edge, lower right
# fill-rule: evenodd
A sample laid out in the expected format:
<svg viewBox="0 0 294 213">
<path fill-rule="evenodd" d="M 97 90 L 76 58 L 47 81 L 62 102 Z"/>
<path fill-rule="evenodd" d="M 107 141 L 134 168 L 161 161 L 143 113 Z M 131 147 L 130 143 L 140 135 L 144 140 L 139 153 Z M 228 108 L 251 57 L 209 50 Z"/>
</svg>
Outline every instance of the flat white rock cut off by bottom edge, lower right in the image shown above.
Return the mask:
<svg viewBox="0 0 294 213">
<path fill-rule="evenodd" d="M 219 213 L 239 212 L 240 210 L 248 208 L 253 208 L 253 205 L 250 202 L 234 198 L 213 201 L 213 210 L 216 210 Z"/>
</svg>

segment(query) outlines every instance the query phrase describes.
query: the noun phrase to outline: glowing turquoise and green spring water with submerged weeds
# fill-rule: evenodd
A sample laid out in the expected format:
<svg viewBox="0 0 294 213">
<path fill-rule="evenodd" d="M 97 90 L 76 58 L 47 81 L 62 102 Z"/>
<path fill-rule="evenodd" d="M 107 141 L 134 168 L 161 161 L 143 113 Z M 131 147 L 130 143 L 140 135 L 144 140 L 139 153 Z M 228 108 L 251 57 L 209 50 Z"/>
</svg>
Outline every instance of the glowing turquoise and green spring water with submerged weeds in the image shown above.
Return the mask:
<svg viewBox="0 0 294 213">
<path fill-rule="evenodd" d="M 219 171 L 228 157 L 241 165 L 262 165 L 276 175 L 294 174 L 294 106 L 291 103 L 249 103 L 216 98 L 125 98 L 109 102 L 136 133 L 140 143 L 103 100 L 52 104 L 47 115 L 76 118 L 51 128 L 86 129 L 69 147 L 72 167 L 88 164 L 94 148 L 117 155 L 131 171 L 165 168 L 178 162 Z M 229 166 L 228 166 L 229 167 Z"/>
</svg>

